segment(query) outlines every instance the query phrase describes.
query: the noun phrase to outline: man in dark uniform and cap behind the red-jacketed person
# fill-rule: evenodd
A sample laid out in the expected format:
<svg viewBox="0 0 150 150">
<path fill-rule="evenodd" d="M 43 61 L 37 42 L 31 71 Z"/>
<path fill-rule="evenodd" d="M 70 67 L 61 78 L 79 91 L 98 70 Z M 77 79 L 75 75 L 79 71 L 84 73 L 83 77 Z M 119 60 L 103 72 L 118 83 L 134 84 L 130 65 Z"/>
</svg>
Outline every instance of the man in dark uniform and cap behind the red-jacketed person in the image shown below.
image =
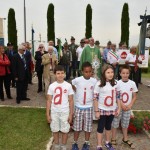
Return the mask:
<svg viewBox="0 0 150 150">
<path fill-rule="evenodd" d="M 9 86 L 12 85 L 12 87 L 15 87 L 16 83 L 15 83 L 15 79 L 12 73 L 12 57 L 14 56 L 14 54 L 16 54 L 16 51 L 14 51 L 13 48 L 13 43 L 9 42 L 7 43 L 7 50 L 5 51 L 5 54 L 7 55 L 9 61 L 10 61 L 10 66 L 9 66 L 9 70 L 10 70 L 10 78 L 9 78 Z"/>
</svg>

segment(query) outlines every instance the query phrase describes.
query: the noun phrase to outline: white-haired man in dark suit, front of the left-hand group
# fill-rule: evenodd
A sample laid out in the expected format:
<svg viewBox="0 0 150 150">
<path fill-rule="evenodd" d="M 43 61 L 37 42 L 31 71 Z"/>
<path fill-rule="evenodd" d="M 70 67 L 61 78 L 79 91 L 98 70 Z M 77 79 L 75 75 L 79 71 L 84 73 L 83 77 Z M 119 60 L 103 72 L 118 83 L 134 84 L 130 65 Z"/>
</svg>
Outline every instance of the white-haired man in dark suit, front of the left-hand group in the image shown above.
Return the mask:
<svg viewBox="0 0 150 150">
<path fill-rule="evenodd" d="M 28 65 L 27 59 L 24 56 L 25 47 L 23 45 L 18 46 L 18 53 L 13 57 L 13 74 L 16 80 L 16 102 L 20 103 L 21 100 L 30 100 L 27 98 L 27 86 L 28 86 Z"/>
</svg>

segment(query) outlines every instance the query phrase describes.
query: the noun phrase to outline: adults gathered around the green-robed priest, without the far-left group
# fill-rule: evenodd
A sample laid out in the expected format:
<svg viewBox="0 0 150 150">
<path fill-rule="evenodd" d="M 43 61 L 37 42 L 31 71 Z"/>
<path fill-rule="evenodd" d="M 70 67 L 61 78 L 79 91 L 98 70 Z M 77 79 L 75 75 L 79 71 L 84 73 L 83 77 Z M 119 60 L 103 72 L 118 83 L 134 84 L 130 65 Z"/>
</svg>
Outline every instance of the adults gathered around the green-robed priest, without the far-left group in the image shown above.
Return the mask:
<svg viewBox="0 0 150 150">
<path fill-rule="evenodd" d="M 60 41 L 57 41 L 57 45 L 54 46 L 53 41 L 49 41 L 48 50 L 45 51 L 43 44 L 40 44 L 38 50 L 35 53 L 36 66 L 35 71 L 38 76 L 38 91 L 43 89 L 42 78 L 45 84 L 45 94 L 49 84 L 55 81 L 54 68 L 55 65 L 63 65 L 66 72 L 65 80 L 69 81 L 70 77 L 75 78 L 81 75 L 81 66 L 83 62 L 88 61 L 93 67 L 93 76 L 100 79 L 101 68 L 104 64 L 110 64 L 115 70 L 115 78 L 120 79 L 119 68 L 121 54 L 120 50 L 126 50 L 125 43 L 119 43 L 118 48 L 115 43 L 108 41 L 105 48 L 100 47 L 99 41 L 95 41 L 94 38 L 81 39 L 80 45 L 75 43 L 75 38 L 71 37 L 70 44 L 65 42 L 61 46 L 61 53 L 59 53 Z M 52 43 L 52 44 L 51 44 Z M 56 53 L 57 52 L 57 53 Z M 125 62 L 129 64 L 131 68 L 130 79 L 134 80 L 137 87 L 140 81 L 138 63 L 142 63 L 140 57 L 136 55 L 137 47 L 132 46 L 130 53 L 127 54 Z M 38 68 L 38 69 L 37 69 Z M 42 77 L 43 74 L 43 77 Z"/>
</svg>

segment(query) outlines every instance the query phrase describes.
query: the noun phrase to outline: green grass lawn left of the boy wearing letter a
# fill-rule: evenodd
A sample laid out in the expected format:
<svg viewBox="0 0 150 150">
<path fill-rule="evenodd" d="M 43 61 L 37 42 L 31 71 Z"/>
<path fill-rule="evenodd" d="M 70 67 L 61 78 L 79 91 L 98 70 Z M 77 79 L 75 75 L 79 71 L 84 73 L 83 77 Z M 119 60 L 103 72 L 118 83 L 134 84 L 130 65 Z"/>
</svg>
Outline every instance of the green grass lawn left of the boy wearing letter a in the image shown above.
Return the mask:
<svg viewBox="0 0 150 150">
<path fill-rule="evenodd" d="M 0 150 L 45 150 L 50 136 L 45 109 L 0 108 Z"/>
</svg>

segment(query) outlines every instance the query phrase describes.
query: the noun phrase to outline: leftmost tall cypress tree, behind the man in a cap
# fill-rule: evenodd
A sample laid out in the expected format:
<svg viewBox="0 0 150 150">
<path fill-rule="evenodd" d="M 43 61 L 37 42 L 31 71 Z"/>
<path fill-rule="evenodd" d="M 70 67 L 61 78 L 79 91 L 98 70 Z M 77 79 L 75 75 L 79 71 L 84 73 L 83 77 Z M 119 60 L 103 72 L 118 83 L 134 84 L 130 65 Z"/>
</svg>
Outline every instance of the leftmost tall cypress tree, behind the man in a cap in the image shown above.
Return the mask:
<svg viewBox="0 0 150 150">
<path fill-rule="evenodd" d="M 10 8 L 8 12 L 8 42 L 14 44 L 14 50 L 17 50 L 17 29 L 15 11 Z"/>
</svg>

